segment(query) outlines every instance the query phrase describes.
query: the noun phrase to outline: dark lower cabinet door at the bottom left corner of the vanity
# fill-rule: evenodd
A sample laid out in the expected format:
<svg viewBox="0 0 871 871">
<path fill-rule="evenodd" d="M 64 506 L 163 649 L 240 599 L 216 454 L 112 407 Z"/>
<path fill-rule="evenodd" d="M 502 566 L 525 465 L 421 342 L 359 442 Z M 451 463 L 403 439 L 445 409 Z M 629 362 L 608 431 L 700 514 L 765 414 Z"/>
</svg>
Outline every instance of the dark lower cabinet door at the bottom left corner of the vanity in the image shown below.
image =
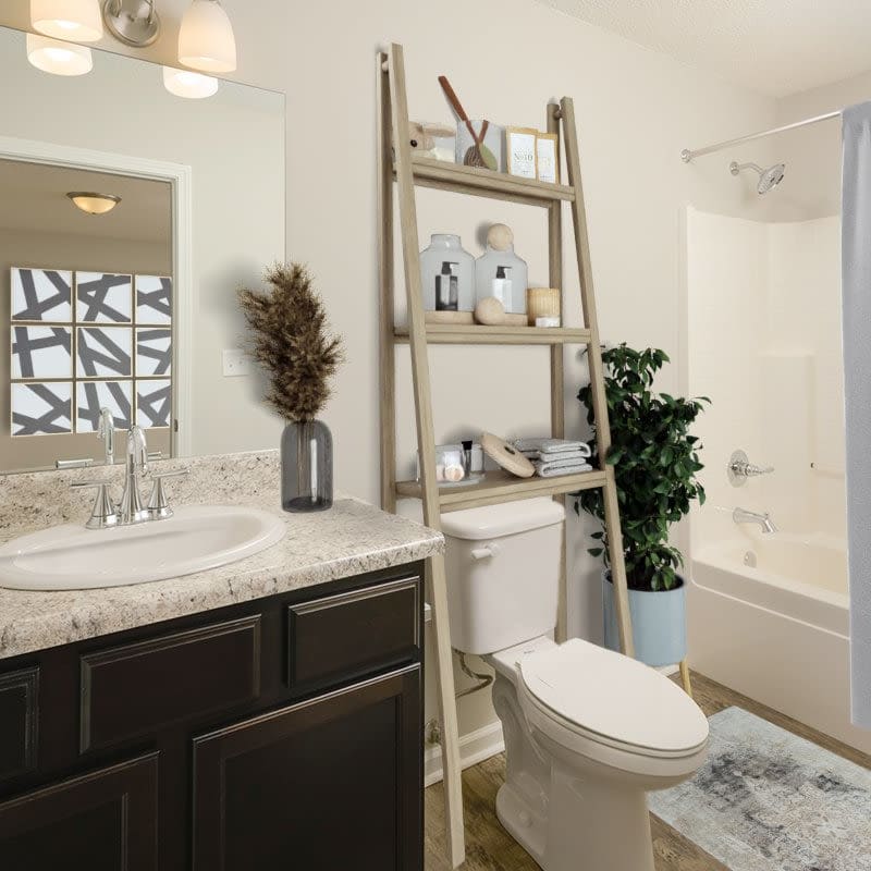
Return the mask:
<svg viewBox="0 0 871 871">
<path fill-rule="evenodd" d="M 155 871 L 157 760 L 150 753 L 0 805 L 3 871 Z"/>
</svg>

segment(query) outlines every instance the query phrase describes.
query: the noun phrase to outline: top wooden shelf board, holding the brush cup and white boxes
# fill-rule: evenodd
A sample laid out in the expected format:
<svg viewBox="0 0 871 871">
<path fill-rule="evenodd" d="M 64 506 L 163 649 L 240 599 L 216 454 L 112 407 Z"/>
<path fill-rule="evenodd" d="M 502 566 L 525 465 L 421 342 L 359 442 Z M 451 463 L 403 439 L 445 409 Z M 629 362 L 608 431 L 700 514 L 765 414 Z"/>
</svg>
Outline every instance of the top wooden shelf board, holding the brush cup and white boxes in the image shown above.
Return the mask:
<svg viewBox="0 0 871 871">
<path fill-rule="evenodd" d="M 414 154 L 412 173 L 415 184 L 420 187 L 434 187 L 439 191 L 504 199 L 510 203 L 550 206 L 560 200 L 572 203 L 575 199 L 575 188 L 565 184 L 520 179 L 506 172 L 465 167 L 462 163 L 449 163 Z"/>
</svg>

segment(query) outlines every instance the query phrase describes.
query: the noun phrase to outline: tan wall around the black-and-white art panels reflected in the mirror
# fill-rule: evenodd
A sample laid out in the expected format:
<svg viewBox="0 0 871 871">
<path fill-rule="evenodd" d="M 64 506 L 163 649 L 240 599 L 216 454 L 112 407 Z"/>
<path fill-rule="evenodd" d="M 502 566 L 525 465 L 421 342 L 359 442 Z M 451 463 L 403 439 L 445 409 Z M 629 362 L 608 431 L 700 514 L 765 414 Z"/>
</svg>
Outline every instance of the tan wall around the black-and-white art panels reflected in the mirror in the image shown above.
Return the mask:
<svg viewBox="0 0 871 871">
<path fill-rule="evenodd" d="M 9 317 L 13 267 L 57 267 L 95 272 L 172 274 L 172 244 L 133 242 L 98 236 L 32 233 L 0 229 L 0 349 L 10 346 Z M 0 353 L 0 421 L 10 420 L 9 354 Z M 116 456 L 123 456 L 119 442 Z M 148 450 L 169 454 L 168 430 L 148 432 Z M 8 424 L 0 425 L 0 469 L 51 467 L 56 459 L 91 457 L 101 462 L 102 442 L 91 434 L 27 436 L 13 439 Z"/>
</svg>

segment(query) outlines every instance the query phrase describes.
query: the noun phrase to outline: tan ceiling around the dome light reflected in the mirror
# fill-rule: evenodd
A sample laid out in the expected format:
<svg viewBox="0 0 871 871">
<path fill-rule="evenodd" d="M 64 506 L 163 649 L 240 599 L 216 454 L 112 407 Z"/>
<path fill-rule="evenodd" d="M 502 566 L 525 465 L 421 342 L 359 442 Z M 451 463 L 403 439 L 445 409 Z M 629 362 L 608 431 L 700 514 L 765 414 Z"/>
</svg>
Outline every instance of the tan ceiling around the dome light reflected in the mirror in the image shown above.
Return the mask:
<svg viewBox="0 0 871 871">
<path fill-rule="evenodd" d="M 70 191 L 114 194 L 121 203 L 107 214 L 85 214 L 68 199 Z M 0 228 L 5 230 L 167 243 L 171 195 L 167 182 L 0 160 Z"/>
</svg>

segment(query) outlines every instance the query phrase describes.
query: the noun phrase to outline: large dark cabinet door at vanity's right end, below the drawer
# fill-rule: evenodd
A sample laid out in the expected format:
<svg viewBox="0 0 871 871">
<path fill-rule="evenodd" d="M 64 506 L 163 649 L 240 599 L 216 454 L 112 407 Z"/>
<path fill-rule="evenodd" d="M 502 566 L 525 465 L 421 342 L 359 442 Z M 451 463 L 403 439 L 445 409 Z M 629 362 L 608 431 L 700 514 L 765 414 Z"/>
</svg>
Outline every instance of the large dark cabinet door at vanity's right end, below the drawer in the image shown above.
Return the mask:
<svg viewBox="0 0 871 871">
<path fill-rule="evenodd" d="M 420 666 L 194 743 L 195 871 L 420 871 Z"/>
</svg>

